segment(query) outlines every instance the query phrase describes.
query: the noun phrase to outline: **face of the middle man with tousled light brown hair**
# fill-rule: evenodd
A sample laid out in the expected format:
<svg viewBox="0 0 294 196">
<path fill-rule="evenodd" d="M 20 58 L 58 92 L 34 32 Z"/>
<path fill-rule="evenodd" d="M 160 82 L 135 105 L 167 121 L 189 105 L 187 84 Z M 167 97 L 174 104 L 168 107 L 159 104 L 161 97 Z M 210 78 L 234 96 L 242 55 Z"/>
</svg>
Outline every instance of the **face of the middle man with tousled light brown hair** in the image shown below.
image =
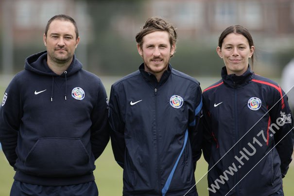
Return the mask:
<svg viewBox="0 0 294 196">
<path fill-rule="evenodd" d="M 145 71 L 154 75 L 162 75 L 168 69 L 175 45 L 171 46 L 168 32 L 156 31 L 144 36 L 142 48 L 139 45 L 137 48 L 143 58 Z"/>
</svg>

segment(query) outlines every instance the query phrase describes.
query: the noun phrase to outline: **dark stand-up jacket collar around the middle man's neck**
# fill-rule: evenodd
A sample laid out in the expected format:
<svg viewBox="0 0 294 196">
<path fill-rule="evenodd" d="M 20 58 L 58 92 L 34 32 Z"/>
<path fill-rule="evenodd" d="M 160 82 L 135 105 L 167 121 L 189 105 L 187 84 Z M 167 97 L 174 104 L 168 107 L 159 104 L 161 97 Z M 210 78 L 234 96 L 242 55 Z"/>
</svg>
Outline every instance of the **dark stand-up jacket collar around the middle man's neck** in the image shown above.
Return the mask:
<svg viewBox="0 0 294 196">
<path fill-rule="evenodd" d="M 168 70 L 164 71 L 161 78 L 160 78 L 160 81 L 157 82 L 156 80 L 156 77 L 154 74 L 150 73 L 150 72 L 147 72 L 144 70 L 144 63 L 142 63 L 139 67 L 139 71 L 140 73 L 142 74 L 143 78 L 147 81 L 147 82 L 150 82 L 150 83 L 153 83 L 153 84 L 156 84 L 157 85 L 162 85 L 163 83 L 165 83 L 167 81 L 167 79 L 169 78 L 171 72 L 172 72 L 172 66 L 171 64 L 169 64 L 168 66 Z"/>
</svg>

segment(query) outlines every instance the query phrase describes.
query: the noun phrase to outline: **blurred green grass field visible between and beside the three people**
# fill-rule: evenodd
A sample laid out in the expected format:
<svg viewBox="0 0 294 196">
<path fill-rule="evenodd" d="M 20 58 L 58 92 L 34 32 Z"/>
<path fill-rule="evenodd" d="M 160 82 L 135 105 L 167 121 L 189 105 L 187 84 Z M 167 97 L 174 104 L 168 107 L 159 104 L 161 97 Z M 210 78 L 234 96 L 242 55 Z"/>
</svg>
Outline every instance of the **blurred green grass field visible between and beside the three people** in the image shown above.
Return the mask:
<svg viewBox="0 0 294 196">
<path fill-rule="evenodd" d="M 12 76 L 0 75 L 0 101 L 2 101 L 3 93 Z M 119 78 L 102 77 L 107 94 L 110 92 L 110 85 Z M 201 82 L 202 89 L 216 81 L 215 78 L 198 78 Z M 196 181 L 202 178 L 207 172 L 208 164 L 203 157 L 197 162 L 195 172 Z M 100 196 L 121 196 L 122 195 L 122 169 L 115 162 L 112 155 L 111 145 L 108 143 L 104 153 L 96 161 L 96 170 L 94 171 L 96 183 Z M 13 182 L 14 170 L 8 164 L 3 152 L 0 150 L 0 196 L 9 196 L 11 184 Z M 285 196 L 294 195 L 294 163 L 291 164 L 287 176 L 283 179 Z M 208 196 L 207 175 L 198 183 L 197 189 L 199 196 Z"/>
</svg>

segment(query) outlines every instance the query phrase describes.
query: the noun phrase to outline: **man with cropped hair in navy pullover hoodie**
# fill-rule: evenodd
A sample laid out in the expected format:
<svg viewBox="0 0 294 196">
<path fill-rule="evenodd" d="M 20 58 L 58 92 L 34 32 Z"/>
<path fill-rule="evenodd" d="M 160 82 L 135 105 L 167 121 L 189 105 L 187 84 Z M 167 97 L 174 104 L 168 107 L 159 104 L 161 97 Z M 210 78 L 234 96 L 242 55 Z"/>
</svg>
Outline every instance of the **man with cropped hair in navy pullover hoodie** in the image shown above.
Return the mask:
<svg viewBox="0 0 294 196">
<path fill-rule="evenodd" d="M 0 106 L 0 142 L 16 174 L 11 196 L 97 196 L 94 161 L 109 141 L 108 101 L 75 57 L 75 21 L 52 17 L 47 51 L 25 60 Z"/>
</svg>

